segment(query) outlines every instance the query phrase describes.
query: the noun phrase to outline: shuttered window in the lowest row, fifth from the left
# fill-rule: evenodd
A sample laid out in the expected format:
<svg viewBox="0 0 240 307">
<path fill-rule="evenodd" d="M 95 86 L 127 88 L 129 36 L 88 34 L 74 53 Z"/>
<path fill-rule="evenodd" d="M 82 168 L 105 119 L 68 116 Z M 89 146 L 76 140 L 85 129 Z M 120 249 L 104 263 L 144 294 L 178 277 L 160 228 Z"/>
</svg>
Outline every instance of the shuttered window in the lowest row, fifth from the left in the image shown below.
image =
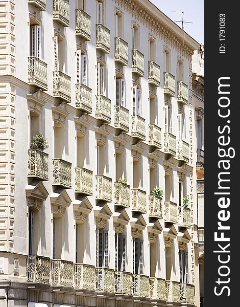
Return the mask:
<svg viewBox="0 0 240 307">
<path fill-rule="evenodd" d="M 126 270 L 126 236 L 115 233 L 115 271 Z"/>
</svg>

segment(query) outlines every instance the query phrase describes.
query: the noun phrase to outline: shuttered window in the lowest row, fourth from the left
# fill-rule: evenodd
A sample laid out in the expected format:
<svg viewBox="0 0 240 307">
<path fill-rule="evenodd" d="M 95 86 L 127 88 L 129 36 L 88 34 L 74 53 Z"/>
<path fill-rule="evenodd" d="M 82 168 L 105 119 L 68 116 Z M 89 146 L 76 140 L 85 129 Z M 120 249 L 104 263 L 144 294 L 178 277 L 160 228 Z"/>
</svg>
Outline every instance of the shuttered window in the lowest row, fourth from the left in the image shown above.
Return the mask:
<svg viewBox="0 0 240 307">
<path fill-rule="evenodd" d="M 108 230 L 97 228 L 97 267 L 108 268 Z"/>
</svg>

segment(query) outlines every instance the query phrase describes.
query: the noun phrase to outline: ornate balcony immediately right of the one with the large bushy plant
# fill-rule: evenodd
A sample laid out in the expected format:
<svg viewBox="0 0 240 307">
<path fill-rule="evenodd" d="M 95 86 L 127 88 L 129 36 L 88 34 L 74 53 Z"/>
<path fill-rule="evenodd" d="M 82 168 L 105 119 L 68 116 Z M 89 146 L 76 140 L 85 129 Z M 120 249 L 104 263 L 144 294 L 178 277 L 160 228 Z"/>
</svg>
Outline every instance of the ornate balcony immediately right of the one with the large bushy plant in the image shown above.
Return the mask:
<svg viewBox="0 0 240 307">
<path fill-rule="evenodd" d="M 71 163 L 53 159 L 53 185 L 71 188 Z"/>
</svg>

